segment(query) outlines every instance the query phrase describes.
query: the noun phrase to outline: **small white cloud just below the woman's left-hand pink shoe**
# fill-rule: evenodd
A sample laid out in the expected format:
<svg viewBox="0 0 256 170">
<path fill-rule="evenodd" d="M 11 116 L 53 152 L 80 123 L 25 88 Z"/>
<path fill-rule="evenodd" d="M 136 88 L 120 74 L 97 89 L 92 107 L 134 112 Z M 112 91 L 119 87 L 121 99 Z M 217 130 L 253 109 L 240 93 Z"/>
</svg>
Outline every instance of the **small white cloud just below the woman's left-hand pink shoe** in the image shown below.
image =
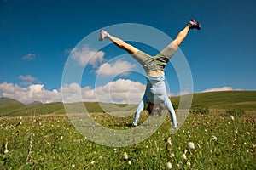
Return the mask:
<svg viewBox="0 0 256 170">
<path fill-rule="evenodd" d="M 84 46 L 82 49 L 73 48 L 71 52 L 71 58 L 82 66 L 89 64 L 96 67 L 98 63 L 102 63 L 104 55 L 105 53 L 103 51 L 97 51 L 88 46 Z"/>
</svg>

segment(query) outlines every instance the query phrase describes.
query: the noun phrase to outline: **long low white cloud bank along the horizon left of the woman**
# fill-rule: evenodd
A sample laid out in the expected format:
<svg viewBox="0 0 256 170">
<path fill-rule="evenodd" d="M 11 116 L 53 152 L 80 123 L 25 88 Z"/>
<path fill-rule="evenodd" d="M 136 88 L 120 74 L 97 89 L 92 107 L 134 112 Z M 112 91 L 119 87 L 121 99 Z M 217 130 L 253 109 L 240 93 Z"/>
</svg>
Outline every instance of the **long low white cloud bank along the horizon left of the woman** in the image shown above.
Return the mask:
<svg viewBox="0 0 256 170">
<path fill-rule="evenodd" d="M 32 84 L 27 88 L 21 88 L 17 84 L 3 82 L 0 84 L 0 94 L 3 97 L 17 99 L 22 103 L 28 104 L 33 101 L 42 103 L 59 102 L 81 102 L 82 101 L 99 101 L 113 103 L 138 103 L 143 97 L 145 85 L 141 82 L 119 79 L 115 82 L 98 87 L 81 88 L 78 83 L 63 85 L 60 89 L 52 91 L 44 89 L 44 84 Z M 61 95 L 61 92 L 63 94 Z"/>
</svg>

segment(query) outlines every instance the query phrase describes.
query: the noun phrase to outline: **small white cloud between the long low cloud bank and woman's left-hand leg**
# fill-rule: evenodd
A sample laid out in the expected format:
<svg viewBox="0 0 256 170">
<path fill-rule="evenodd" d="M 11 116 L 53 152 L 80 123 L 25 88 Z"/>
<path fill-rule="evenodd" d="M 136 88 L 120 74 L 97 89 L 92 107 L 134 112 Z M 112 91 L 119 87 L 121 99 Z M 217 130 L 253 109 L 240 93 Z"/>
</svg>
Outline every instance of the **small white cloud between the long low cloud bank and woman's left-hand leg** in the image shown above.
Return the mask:
<svg viewBox="0 0 256 170">
<path fill-rule="evenodd" d="M 100 77 L 111 77 L 117 75 L 128 75 L 129 71 L 132 71 L 136 65 L 131 64 L 128 61 L 118 59 L 115 63 L 102 64 L 97 70 L 96 74 Z"/>
</svg>

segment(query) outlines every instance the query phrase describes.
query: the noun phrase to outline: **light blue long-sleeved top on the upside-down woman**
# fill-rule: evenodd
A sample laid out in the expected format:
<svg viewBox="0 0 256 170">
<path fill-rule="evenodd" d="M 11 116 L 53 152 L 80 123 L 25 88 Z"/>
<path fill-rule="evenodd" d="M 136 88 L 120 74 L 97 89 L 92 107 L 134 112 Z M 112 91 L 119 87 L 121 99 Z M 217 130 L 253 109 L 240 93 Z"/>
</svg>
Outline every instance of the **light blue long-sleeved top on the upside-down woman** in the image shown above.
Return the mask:
<svg viewBox="0 0 256 170">
<path fill-rule="evenodd" d="M 135 113 L 133 125 L 137 126 L 137 122 L 141 112 L 143 111 L 145 105 L 148 102 L 153 104 L 161 104 L 164 103 L 166 109 L 169 111 L 170 116 L 172 118 L 172 127 L 177 127 L 177 120 L 175 111 L 172 106 L 171 100 L 168 98 L 166 94 L 166 82 L 165 82 L 165 74 L 160 77 L 149 77 L 147 76 L 147 87 L 145 94 L 143 96 L 142 101 L 139 103 L 137 107 L 137 111 Z"/>
</svg>

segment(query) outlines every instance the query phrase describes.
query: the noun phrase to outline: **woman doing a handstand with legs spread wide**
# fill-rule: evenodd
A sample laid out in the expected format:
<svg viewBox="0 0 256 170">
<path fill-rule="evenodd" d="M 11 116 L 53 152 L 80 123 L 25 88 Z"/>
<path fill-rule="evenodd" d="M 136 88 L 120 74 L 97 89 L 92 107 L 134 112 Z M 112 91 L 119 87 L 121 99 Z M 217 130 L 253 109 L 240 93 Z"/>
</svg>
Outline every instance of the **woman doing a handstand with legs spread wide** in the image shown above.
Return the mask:
<svg viewBox="0 0 256 170">
<path fill-rule="evenodd" d="M 99 36 L 99 41 L 104 39 L 111 40 L 117 47 L 124 49 L 131 57 L 136 59 L 141 65 L 143 65 L 144 70 L 146 71 L 147 78 L 147 87 L 145 94 L 143 96 L 142 101 L 139 103 L 137 107 L 137 111 L 135 113 L 133 126 L 137 127 L 137 122 L 140 116 L 140 113 L 143 111 L 145 105 L 149 103 L 148 109 L 149 114 L 153 111 L 153 108 L 159 110 L 160 104 L 164 103 L 166 109 L 169 111 L 172 117 L 172 127 L 177 128 L 177 120 L 175 111 L 173 109 L 171 100 L 168 98 L 166 94 L 166 83 L 165 83 L 165 68 L 169 59 L 172 58 L 173 54 L 176 53 L 178 46 L 183 42 L 184 38 L 187 37 L 189 33 L 189 29 L 197 29 L 200 30 L 200 24 L 191 19 L 189 20 L 188 25 L 183 28 L 177 35 L 177 37 L 166 47 L 164 48 L 160 54 L 156 56 L 150 56 L 146 53 L 143 53 L 139 49 L 131 46 L 124 42 L 123 40 L 113 37 L 107 31 L 102 30 Z M 156 105 L 153 107 L 153 105 Z M 160 112 L 160 111 L 158 111 Z"/>
</svg>

